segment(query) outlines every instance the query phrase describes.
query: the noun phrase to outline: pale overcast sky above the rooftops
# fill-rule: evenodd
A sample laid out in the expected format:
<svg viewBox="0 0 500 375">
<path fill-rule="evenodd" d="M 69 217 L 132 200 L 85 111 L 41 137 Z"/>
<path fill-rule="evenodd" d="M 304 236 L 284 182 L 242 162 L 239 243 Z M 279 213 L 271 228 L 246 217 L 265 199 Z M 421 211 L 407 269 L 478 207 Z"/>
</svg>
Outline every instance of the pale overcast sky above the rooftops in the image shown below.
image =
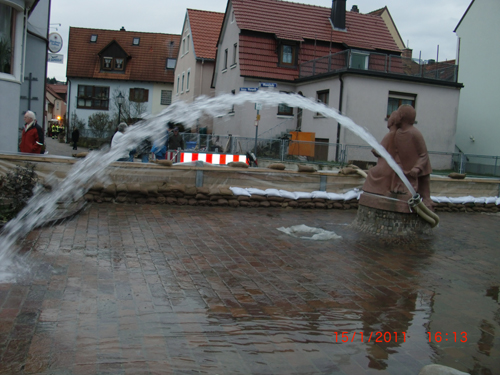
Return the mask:
<svg viewBox="0 0 500 375">
<path fill-rule="evenodd" d="M 247 0 L 251 1 L 251 0 Z M 456 57 L 453 32 L 472 0 L 347 0 L 347 10 L 357 5 L 361 13 L 387 6 L 413 57 L 439 61 Z M 331 7 L 331 0 L 301 0 L 297 3 Z M 51 32 L 63 38 L 64 64 L 49 63 L 48 77 L 66 80 L 69 27 L 180 34 L 186 9 L 224 12 L 227 0 L 52 0 Z M 59 26 L 58 24 L 61 24 Z M 57 30 L 56 30 L 57 29 Z"/>
</svg>

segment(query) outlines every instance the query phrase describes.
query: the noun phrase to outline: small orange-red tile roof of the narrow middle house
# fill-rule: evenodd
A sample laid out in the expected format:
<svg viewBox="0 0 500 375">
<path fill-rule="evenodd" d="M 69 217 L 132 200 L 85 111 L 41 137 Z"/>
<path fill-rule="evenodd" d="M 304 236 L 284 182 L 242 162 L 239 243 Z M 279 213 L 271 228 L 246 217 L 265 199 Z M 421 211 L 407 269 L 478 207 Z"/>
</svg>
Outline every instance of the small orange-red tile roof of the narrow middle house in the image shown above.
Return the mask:
<svg viewBox="0 0 500 375">
<path fill-rule="evenodd" d="M 196 57 L 215 60 L 224 13 L 196 9 L 188 9 L 187 12 Z"/>
</svg>

